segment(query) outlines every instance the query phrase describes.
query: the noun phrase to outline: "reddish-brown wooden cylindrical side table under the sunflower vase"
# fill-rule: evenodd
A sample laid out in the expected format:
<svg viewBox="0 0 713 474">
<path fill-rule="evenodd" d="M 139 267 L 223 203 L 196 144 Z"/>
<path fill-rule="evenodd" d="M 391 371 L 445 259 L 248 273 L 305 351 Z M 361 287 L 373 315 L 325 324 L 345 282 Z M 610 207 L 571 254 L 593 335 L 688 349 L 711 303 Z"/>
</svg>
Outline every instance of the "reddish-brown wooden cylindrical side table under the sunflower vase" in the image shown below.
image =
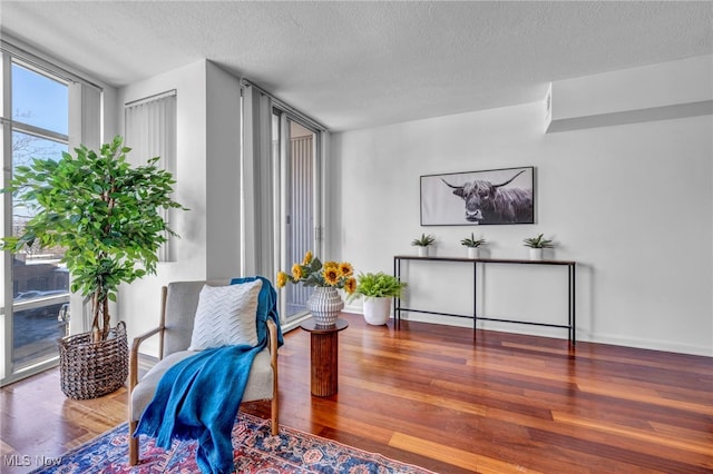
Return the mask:
<svg viewBox="0 0 713 474">
<path fill-rule="evenodd" d="M 300 327 L 310 333 L 311 392 L 314 396 L 332 396 L 338 391 L 339 332 L 346 329 L 345 319 L 332 327 L 318 326 L 313 318 Z"/>
</svg>

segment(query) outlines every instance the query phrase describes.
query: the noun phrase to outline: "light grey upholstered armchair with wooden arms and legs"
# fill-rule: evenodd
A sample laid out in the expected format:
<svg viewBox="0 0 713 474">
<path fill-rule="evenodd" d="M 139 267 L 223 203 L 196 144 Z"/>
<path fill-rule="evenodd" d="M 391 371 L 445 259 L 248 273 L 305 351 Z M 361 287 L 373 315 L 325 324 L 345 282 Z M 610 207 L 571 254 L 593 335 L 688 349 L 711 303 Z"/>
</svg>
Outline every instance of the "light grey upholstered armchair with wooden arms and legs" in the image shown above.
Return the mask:
<svg viewBox="0 0 713 474">
<path fill-rule="evenodd" d="M 145 407 L 152 402 L 156 387 L 162 376 L 179 361 L 184 361 L 192 355 L 195 336 L 194 320 L 198 309 L 199 297 L 204 286 L 223 287 L 229 285 L 229 280 L 213 282 L 175 282 L 170 283 L 162 290 L 162 308 L 158 327 L 136 337 L 134 339 L 129 357 L 129 464 L 138 463 L 139 446 L 138 437 L 131 434 L 136 431 L 138 421 Z M 267 318 L 267 345 L 254 358 L 251 366 L 247 385 L 243 393 L 242 402 L 253 402 L 270 399 L 272 434 L 279 432 L 279 408 L 277 408 L 277 346 L 279 329 L 272 319 Z M 196 324 L 197 325 L 197 324 Z M 138 379 L 138 354 L 140 344 L 147 338 L 158 335 L 159 362 Z M 194 337 L 194 339 L 192 339 Z"/>
</svg>

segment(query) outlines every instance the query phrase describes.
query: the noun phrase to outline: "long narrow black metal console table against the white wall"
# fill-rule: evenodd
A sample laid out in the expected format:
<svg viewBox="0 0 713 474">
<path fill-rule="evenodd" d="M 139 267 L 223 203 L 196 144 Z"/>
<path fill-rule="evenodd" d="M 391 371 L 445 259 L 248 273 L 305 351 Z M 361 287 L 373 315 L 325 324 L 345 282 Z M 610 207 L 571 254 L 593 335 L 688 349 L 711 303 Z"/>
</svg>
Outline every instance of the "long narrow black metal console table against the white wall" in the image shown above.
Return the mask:
<svg viewBox="0 0 713 474">
<path fill-rule="evenodd" d="M 477 328 L 478 319 L 480 320 L 494 320 L 498 323 L 516 323 L 516 324 L 527 324 L 533 326 L 548 326 L 548 327 L 561 327 L 567 329 L 567 338 L 569 343 L 574 346 L 576 344 L 575 336 L 575 327 L 576 327 L 576 315 L 575 315 L 575 267 L 576 261 L 569 260 L 520 260 L 520 259 L 509 259 L 509 258 L 457 258 L 457 257 L 417 257 L 413 255 L 397 255 L 393 257 L 393 275 L 401 279 L 401 260 L 423 260 L 423 261 L 462 261 L 472 264 L 472 276 L 473 276 L 473 285 L 472 285 L 472 294 L 473 294 L 473 305 L 472 305 L 472 316 L 471 315 L 458 315 L 450 313 L 438 313 L 438 312 L 427 312 L 423 309 L 414 309 L 414 308 L 406 308 L 401 306 L 401 299 L 393 299 L 393 315 L 395 317 L 397 327 L 401 325 L 401 312 L 411 312 L 411 313 L 424 313 L 432 315 L 441 315 L 441 316 L 455 316 L 455 317 L 466 317 L 473 319 L 473 330 Z M 549 324 L 549 323 L 534 323 L 534 322 L 525 322 L 525 320 L 514 320 L 514 319 L 499 319 L 499 318 L 489 318 L 478 316 L 478 264 L 488 265 L 488 264 L 517 264 L 517 265 L 559 265 L 567 267 L 567 290 L 568 290 L 568 317 L 567 324 Z"/>
</svg>

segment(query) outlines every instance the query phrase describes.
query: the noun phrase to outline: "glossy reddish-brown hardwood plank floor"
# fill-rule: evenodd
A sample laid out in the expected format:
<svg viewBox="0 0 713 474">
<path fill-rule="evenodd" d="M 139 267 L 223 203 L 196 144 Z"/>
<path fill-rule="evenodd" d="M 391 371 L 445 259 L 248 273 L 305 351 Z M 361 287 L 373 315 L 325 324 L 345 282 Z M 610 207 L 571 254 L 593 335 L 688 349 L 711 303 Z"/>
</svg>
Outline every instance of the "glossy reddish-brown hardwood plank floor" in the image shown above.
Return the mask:
<svg viewBox="0 0 713 474">
<path fill-rule="evenodd" d="M 310 395 L 309 334 L 285 335 L 282 424 L 438 473 L 713 472 L 713 358 L 343 317 L 332 397 Z M 56 369 L 1 393 L 3 473 L 125 419 L 124 388 L 70 401 Z"/>
</svg>

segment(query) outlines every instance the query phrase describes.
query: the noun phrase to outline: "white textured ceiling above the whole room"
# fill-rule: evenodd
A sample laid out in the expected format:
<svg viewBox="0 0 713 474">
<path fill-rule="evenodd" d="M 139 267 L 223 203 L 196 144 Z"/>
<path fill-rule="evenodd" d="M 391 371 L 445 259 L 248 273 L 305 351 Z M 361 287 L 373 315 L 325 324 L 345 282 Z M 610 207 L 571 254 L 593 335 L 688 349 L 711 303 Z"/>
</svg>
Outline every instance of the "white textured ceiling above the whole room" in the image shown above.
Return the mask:
<svg viewBox="0 0 713 474">
<path fill-rule="evenodd" d="M 207 58 L 332 130 L 541 100 L 713 53 L 703 2 L 6 1 L 1 32 L 114 86 Z"/>
</svg>

